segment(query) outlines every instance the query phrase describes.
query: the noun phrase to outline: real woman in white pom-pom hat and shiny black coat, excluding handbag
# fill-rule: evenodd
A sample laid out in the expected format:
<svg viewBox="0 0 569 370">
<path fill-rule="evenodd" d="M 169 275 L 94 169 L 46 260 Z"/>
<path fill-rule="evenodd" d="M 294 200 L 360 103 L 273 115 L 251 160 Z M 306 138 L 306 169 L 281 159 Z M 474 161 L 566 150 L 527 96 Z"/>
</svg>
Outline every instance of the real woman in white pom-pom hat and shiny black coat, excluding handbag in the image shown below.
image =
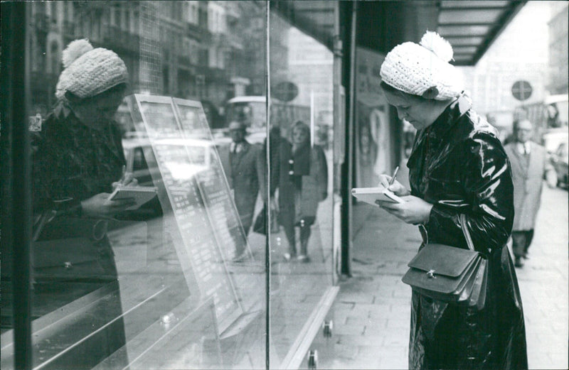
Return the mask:
<svg viewBox="0 0 569 370">
<path fill-rule="evenodd" d="M 413 290 L 410 369 L 527 369 L 526 334 L 514 265 L 505 247 L 514 219 L 511 169 L 495 129 L 472 111 L 452 47 L 427 32 L 397 45 L 381 65 L 382 87 L 400 119 L 418 130 L 408 160 L 411 190 L 381 175 L 404 203 L 387 212 L 418 224 L 429 242 L 474 249 L 488 258 L 486 303 L 458 306 Z"/>
</svg>

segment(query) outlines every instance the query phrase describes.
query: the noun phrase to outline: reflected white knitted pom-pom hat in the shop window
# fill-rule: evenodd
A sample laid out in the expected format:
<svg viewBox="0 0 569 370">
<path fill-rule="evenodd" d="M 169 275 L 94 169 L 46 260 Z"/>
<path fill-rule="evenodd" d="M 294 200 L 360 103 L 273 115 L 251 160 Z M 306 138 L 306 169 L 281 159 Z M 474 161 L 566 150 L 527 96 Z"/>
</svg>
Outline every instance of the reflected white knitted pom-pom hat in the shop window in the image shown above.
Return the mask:
<svg viewBox="0 0 569 370">
<path fill-rule="evenodd" d="M 105 48 L 93 48 L 87 39 L 74 40 L 63 50 L 63 72 L 55 97 L 63 99 L 73 92 L 81 99 L 94 97 L 128 81 L 127 66 L 119 56 Z"/>
</svg>

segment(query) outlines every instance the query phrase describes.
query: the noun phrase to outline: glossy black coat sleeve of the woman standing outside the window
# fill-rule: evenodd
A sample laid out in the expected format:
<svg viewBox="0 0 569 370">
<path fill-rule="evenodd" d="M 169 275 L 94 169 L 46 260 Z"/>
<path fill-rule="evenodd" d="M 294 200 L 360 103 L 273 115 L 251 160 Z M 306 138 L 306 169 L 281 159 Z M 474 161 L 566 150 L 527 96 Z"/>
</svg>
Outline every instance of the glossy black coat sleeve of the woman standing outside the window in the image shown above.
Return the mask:
<svg viewBox="0 0 569 370">
<path fill-rule="evenodd" d="M 462 207 L 445 207 L 445 202 L 433 205 L 427 232 L 432 229 L 450 233 L 457 241 L 464 240 L 459 214 L 467 216 L 467 228 L 474 247 L 488 253 L 503 246 L 511 234 L 514 222 L 514 185 L 511 168 L 504 148 L 497 138 L 478 133 L 459 146 L 462 172 L 459 180 L 464 190 Z"/>
</svg>

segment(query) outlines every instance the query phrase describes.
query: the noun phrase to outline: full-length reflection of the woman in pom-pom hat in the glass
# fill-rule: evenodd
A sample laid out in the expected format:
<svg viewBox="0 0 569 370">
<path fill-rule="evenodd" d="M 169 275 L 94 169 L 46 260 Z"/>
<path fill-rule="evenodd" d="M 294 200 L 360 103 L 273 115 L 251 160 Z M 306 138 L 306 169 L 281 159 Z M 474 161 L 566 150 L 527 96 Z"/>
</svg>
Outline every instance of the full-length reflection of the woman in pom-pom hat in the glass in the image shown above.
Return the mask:
<svg viewBox="0 0 569 370">
<path fill-rule="evenodd" d="M 124 173 L 121 134 L 112 119 L 128 74 L 117 54 L 93 49 L 87 40 L 70 43 L 63 65 L 55 93 L 58 103 L 33 142 L 33 205 L 38 216 L 33 248 L 36 257 L 46 256 L 36 263 L 42 266 L 35 266 L 34 273 L 36 292 L 47 292 L 50 304 L 63 306 L 94 290 L 112 292 L 105 310 L 97 311 L 88 326 L 101 329 L 88 341 L 89 356 L 73 360 L 76 367 L 90 369 L 125 342 L 106 223 L 132 205 L 132 200 L 107 200 L 112 183 L 120 179 L 136 184 Z M 54 261 L 53 266 L 43 266 L 47 260 Z M 41 300 L 34 304 L 41 306 Z"/>
</svg>

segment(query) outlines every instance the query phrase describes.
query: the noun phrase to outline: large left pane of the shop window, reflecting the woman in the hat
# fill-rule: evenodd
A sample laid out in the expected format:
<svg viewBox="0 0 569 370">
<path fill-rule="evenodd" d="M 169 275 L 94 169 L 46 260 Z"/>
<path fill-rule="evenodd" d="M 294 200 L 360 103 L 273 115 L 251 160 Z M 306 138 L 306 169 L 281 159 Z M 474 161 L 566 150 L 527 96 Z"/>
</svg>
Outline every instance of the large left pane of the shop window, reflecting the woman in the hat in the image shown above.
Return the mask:
<svg viewBox="0 0 569 370">
<path fill-rule="evenodd" d="M 75 38 L 114 51 L 105 58 L 129 67 L 128 80 L 110 71 L 124 87 L 78 72 L 58 90 L 59 75 L 48 70 L 56 61 L 36 63 L 29 81 L 29 115 L 38 123 L 31 135 L 34 368 L 265 367 L 265 236 L 251 230 L 262 208 L 256 161 L 264 137 L 253 126 L 245 135 L 250 148 L 240 143 L 232 153 L 225 112 L 235 92 L 252 83 L 266 90 L 265 60 L 244 58 L 247 39 L 265 37 L 252 25 L 265 24 L 267 9 L 260 1 L 230 3 L 216 7 L 223 14 L 232 6 L 233 29 L 211 38 L 201 2 L 192 6 L 203 22 L 191 28 L 173 22 L 181 19 L 179 1 L 74 2 L 69 21 L 84 25 Z M 97 39 L 102 19 L 115 27 Z M 32 55 L 61 55 L 70 42 L 55 29 L 48 35 L 41 21 L 26 24 L 36 40 Z M 186 38 L 190 55 L 181 47 Z M 53 39 L 64 40 L 58 50 L 48 50 Z M 208 50 L 229 44 L 240 58 L 208 65 Z M 75 67 L 102 62 L 92 58 Z M 255 117 L 266 116 L 260 109 Z M 129 200 L 110 200 L 124 173 L 137 179 L 122 190 Z M 2 270 L 1 369 L 13 369 L 18 312 L 9 310 L 9 271 Z"/>
</svg>

